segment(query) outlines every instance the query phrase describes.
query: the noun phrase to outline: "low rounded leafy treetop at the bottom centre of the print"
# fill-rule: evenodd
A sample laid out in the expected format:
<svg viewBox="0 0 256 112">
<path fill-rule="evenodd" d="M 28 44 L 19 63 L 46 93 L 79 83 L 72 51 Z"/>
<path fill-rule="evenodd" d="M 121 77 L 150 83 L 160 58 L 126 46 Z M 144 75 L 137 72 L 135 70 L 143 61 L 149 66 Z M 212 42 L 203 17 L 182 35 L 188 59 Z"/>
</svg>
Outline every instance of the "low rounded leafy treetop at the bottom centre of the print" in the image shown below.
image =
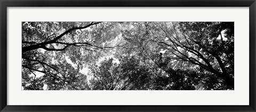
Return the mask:
<svg viewBox="0 0 256 112">
<path fill-rule="evenodd" d="M 92 90 L 148 90 L 153 81 L 147 68 L 142 67 L 134 56 L 120 57 L 119 63 L 113 58 L 106 59 L 100 65 L 91 68 Z"/>
</svg>

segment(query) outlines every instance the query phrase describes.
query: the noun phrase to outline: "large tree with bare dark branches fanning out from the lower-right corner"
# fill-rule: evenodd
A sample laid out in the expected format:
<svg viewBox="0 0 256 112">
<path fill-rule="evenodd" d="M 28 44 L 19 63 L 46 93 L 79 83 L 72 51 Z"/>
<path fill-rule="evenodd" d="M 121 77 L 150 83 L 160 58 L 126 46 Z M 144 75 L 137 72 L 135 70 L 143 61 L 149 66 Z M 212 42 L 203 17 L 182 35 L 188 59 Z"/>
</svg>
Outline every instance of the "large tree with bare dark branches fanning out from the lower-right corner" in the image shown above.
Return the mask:
<svg viewBox="0 0 256 112">
<path fill-rule="evenodd" d="M 143 33 L 126 31 L 126 38 L 143 39 L 142 49 L 159 69 L 203 69 L 203 83 L 212 89 L 234 89 L 234 22 L 144 22 Z M 139 26 L 134 24 L 134 26 Z M 139 27 L 141 29 L 141 27 Z M 164 62 L 154 55 L 161 53 Z M 161 60 L 162 60 L 161 59 Z M 163 63 L 164 66 L 163 66 Z M 166 69 L 167 66 L 167 69 Z M 212 77 L 217 79 L 212 81 Z"/>
</svg>

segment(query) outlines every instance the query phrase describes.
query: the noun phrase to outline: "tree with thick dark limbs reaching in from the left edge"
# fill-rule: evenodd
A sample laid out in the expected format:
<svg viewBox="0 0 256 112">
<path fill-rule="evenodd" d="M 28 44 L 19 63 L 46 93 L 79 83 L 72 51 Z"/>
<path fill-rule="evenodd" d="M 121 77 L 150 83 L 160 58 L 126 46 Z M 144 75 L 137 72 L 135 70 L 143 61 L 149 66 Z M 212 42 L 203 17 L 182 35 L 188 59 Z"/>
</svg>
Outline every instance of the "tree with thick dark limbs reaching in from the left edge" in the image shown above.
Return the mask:
<svg viewBox="0 0 256 112">
<path fill-rule="evenodd" d="M 22 22 L 24 89 L 31 83 L 29 75 L 34 75 L 32 82 L 42 78 L 37 79 L 36 73 L 43 74 L 43 78 L 40 87 L 34 89 L 42 90 L 42 84 L 47 84 L 50 90 L 84 89 L 76 85 L 81 83 L 81 78 L 86 78 L 79 73 L 80 67 L 86 66 L 85 62 L 92 58 L 99 58 L 103 52 L 100 50 L 118 46 L 107 42 L 118 35 L 118 31 L 113 31 L 114 25 L 107 22 Z M 110 31 L 114 33 L 105 34 Z"/>
</svg>

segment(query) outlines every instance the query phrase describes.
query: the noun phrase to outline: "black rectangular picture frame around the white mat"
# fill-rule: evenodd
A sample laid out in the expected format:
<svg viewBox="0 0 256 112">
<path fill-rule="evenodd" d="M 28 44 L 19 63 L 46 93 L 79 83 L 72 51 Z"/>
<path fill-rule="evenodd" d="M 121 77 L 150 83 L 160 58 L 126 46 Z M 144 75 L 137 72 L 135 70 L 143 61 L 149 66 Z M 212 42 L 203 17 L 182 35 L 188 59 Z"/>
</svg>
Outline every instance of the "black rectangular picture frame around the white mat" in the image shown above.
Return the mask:
<svg viewBox="0 0 256 112">
<path fill-rule="evenodd" d="M 255 0 L 0 0 L 0 110 L 2 111 L 255 111 Z M 7 7 L 250 7 L 250 105 L 248 106 L 13 106 L 7 103 Z"/>
</svg>

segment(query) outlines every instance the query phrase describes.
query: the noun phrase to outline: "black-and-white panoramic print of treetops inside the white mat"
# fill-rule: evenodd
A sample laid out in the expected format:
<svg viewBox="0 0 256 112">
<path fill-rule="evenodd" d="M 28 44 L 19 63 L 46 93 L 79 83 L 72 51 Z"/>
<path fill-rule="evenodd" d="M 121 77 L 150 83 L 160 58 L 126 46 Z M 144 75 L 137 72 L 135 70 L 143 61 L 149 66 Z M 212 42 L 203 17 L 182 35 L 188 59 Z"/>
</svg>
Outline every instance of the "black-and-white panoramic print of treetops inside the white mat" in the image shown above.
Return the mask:
<svg viewBox="0 0 256 112">
<path fill-rule="evenodd" d="M 22 22 L 22 90 L 234 90 L 234 22 Z"/>
</svg>

